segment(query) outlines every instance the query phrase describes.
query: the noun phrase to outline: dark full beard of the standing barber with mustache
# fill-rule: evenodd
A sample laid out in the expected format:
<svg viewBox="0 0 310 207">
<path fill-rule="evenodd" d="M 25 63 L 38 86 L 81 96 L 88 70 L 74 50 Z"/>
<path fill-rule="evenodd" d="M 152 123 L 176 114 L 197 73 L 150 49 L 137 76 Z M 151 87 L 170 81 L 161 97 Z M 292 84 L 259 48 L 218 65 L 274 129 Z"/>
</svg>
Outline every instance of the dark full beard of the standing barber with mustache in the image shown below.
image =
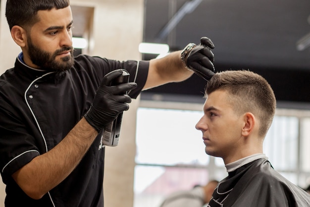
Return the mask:
<svg viewBox="0 0 310 207">
<path fill-rule="evenodd" d="M 41 50 L 35 46 L 31 39 L 28 42 L 28 54 L 33 64 L 39 66 L 40 69 L 47 69 L 52 71 L 64 71 L 70 69 L 74 65 L 73 47 L 63 47 L 56 50 L 53 54 Z M 70 51 L 70 55 L 60 58 L 60 61 L 56 61 L 56 56 L 64 51 Z"/>
</svg>

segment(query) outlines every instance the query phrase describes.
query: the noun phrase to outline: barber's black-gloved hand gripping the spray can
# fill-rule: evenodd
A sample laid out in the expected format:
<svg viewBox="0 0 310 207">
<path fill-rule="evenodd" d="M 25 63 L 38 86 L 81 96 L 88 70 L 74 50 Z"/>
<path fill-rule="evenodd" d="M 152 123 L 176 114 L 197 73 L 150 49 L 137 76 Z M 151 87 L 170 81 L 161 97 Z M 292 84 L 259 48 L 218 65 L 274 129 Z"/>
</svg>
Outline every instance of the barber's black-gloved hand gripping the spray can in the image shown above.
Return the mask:
<svg viewBox="0 0 310 207">
<path fill-rule="evenodd" d="M 97 90 L 94 101 L 84 115 L 86 121 L 100 133 L 104 127 L 114 121 L 118 114 L 129 109 L 127 103 L 131 102 L 126 91 L 137 87 L 137 83 L 123 83 L 109 86 L 111 80 L 122 74 L 121 69 L 113 70 L 104 75 Z"/>
</svg>

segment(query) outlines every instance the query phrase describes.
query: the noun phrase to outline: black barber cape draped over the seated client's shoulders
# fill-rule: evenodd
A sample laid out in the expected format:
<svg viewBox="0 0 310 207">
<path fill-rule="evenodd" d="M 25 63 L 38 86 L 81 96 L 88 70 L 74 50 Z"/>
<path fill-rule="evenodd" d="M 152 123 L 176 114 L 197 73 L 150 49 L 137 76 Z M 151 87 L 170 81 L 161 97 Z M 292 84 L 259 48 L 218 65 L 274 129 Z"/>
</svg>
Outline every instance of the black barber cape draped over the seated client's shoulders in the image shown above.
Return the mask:
<svg viewBox="0 0 310 207">
<path fill-rule="evenodd" d="M 259 158 L 228 172 L 207 207 L 310 207 L 310 195 Z"/>
</svg>

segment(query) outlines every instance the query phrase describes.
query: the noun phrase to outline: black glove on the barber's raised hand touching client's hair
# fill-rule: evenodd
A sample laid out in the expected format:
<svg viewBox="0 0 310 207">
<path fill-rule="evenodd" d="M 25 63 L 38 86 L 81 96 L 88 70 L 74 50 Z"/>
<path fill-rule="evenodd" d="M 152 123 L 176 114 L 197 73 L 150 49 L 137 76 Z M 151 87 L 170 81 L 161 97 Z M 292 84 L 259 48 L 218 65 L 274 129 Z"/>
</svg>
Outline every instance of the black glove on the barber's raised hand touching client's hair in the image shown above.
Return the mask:
<svg viewBox="0 0 310 207">
<path fill-rule="evenodd" d="M 210 49 L 214 49 L 214 44 L 209 38 L 202 37 L 200 44 L 186 58 L 186 65 L 205 80 L 214 75 L 214 55 Z"/>
</svg>

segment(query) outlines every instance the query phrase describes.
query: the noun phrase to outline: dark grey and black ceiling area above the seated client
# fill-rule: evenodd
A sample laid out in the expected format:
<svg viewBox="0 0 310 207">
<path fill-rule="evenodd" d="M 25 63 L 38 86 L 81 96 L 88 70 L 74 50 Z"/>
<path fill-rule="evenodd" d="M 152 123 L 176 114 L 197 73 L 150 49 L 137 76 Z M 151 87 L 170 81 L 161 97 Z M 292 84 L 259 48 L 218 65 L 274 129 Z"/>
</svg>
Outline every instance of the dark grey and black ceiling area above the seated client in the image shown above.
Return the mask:
<svg viewBox="0 0 310 207">
<path fill-rule="evenodd" d="M 191 12 L 185 4 L 193 6 Z M 310 105 L 310 47 L 297 50 L 297 42 L 310 34 L 310 0 L 146 0 L 145 5 L 144 42 L 179 50 L 207 36 L 215 45 L 217 71 L 253 70 L 269 81 L 279 102 Z M 143 56 L 150 58 L 154 55 Z M 194 75 L 144 94 L 186 99 L 201 96 L 205 85 Z"/>
</svg>

